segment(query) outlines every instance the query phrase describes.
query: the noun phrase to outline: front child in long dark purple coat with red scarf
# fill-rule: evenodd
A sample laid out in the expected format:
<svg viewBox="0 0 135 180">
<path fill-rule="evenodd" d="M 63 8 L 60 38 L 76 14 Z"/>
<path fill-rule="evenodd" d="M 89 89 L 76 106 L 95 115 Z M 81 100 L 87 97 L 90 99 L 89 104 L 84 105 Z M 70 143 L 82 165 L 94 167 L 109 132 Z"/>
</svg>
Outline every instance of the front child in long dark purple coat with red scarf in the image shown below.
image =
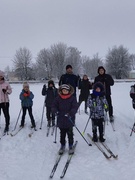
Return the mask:
<svg viewBox="0 0 135 180">
<path fill-rule="evenodd" d="M 72 86 L 63 84 L 58 89 L 58 96 L 53 102 L 52 111 L 57 113 L 57 126 L 60 128 L 61 148 L 59 154 L 62 154 L 66 145 L 66 134 L 68 136 L 69 153 L 73 152 L 73 126 L 75 123 L 75 114 L 78 109 L 78 103 L 73 96 Z"/>
</svg>

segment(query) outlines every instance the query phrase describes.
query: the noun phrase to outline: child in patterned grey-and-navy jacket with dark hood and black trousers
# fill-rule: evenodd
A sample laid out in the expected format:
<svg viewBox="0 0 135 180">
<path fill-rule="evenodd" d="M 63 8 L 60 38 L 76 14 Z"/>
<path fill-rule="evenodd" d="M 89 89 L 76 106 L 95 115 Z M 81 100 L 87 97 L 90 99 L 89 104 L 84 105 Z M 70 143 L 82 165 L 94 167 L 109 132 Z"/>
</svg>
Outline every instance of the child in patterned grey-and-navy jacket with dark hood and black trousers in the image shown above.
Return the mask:
<svg viewBox="0 0 135 180">
<path fill-rule="evenodd" d="M 97 126 L 99 128 L 99 140 L 104 142 L 104 110 L 108 111 L 108 103 L 104 93 L 104 86 L 97 82 L 93 86 L 93 93 L 88 98 L 88 106 L 90 108 L 90 116 L 92 120 L 93 141 L 97 142 Z"/>
</svg>

